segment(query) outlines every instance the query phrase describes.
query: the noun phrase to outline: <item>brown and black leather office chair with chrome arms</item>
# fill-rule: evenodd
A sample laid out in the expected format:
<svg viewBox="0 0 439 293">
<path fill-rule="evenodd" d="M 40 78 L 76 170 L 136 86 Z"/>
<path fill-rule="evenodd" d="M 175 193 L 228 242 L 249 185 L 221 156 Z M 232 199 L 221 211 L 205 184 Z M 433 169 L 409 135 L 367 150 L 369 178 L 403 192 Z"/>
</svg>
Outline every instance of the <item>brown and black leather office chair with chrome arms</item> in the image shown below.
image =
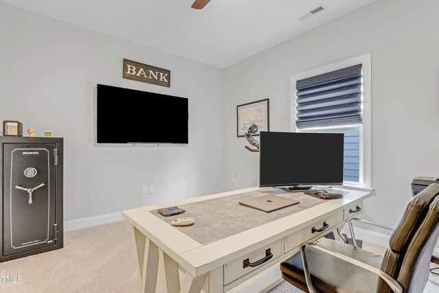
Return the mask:
<svg viewBox="0 0 439 293">
<path fill-rule="evenodd" d="M 356 247 L 352 223 L 372 223 L 353 219 L 354 246 L 331 239 L 306 244 L 281 263 L 283 279 L 310 293 L 423 292 L 439 235 L 438 194 L 433 183 L 410 200 L 384 256 Z"/>
</svg>

